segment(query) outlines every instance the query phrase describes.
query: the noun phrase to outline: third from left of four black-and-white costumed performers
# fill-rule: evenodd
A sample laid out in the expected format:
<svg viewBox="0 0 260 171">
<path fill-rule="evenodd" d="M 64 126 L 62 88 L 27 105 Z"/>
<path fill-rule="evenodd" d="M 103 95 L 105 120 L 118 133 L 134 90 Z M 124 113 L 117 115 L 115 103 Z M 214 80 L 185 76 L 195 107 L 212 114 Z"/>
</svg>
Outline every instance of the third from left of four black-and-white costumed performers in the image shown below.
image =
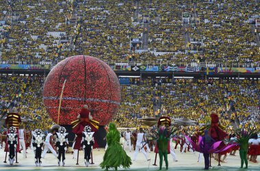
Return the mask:
<svg viewBox="0 0 260 171">
<path fill-rule="evenodd" d="M 68 146 L 68 133 L 66 133 L 66 129 L 64 127 L 60 127 L 59 132 L 57 133 L 57 142 L 56 142 L 56 147 L 57 147 L 57 163 L 60 166 L 60 161 L 62 158 L 62 166 L 65 166 L 65 153 L 67 150 Z"/>
</svg>

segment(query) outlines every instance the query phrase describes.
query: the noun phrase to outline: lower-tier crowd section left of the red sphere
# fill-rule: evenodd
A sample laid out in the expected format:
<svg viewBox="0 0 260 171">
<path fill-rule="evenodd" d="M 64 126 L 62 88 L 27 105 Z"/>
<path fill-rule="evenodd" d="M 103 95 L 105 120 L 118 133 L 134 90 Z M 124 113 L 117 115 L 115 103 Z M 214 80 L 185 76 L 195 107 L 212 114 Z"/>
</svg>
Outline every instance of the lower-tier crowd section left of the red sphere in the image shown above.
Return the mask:
<svg viewBox="0 0 260 171">
<path fill-rule="evenodd" d="M 1 76 L 0 109 L 1 120 L 5 120 L 6 114 L 12 112 L 12 107 L 18 109 L 21 115 L 22 127 L 34 130 L 48 128 L 54 124 L 49 118 L 42 101 L 43 77 L 23 77 L 23 76 Z M 3 127 L 3 125 L 2 125 Z M 3 129 L 3 128 L 1 128 Z"/>
</svg>

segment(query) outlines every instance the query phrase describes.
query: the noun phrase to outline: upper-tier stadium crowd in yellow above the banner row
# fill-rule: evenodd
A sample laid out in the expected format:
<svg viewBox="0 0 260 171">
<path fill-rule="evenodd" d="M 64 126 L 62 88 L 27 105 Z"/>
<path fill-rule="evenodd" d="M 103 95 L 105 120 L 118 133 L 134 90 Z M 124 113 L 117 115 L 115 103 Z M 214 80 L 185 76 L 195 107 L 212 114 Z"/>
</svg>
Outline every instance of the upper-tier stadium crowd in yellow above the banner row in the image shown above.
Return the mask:
<svg viewBox="0 0 260 171">
<path fill-rule="evenodd" d="M 133 52 L 137 62 L 197 62 L 192 51 L 198 50 L 207 63 L 259 66 L 253 36 L 259 29 L 251 29 L 259 17 L 254 0 L 23 0 L 5 1 L 0 10 L 0 56 L 8 63 L 59 62 L 77 54 L 127 62 L 130 39 L 142 40 L 146 17 L 148 52 Z M 155 57 L 154 51 L 171 53 Z"/>
</svg>

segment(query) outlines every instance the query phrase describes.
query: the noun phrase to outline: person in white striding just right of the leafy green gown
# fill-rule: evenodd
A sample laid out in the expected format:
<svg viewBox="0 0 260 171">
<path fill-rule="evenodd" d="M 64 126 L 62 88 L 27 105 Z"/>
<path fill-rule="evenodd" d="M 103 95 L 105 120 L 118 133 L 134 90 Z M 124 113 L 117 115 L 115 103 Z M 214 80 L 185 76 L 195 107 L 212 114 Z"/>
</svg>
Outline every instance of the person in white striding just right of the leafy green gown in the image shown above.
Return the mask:
<svg viewBox="0 0 260 171">
<path fill-rule="evenodd" d="M 148 159 L 148 154 L 144 150 L 144 143 L 146 142 L 146 137 L 144 136 L 144 131 L 142 128 L 140 128 L 140 132 L 138 133 L 137 140 L 136 140 L 136 146 L 135 146 L 135 153 L 133 153 L 133 161 L 136 160 L 136 157 L 138 157 L 139 150 L 144 154 L 144 157 L 146 158 L 147 161 Z"/>
</svg>

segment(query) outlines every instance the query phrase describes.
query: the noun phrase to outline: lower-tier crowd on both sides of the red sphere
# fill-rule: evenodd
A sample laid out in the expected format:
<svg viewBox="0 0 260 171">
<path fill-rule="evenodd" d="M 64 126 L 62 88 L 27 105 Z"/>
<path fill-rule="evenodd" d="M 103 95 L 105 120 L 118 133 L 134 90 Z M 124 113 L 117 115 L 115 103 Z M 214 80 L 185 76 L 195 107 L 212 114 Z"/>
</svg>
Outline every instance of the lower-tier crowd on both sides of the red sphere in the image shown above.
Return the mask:
<svg viewBox="0 0 260 171">
<path fill-rule="evenodd" d="M 18 108 L 29 129 L 48 129 L 54 122 L 42 103 L 44 77 L 1 77 L 1 118 L 12 106 Z M 198 125 L 209 122 L 217 111 L 224 126 L 239 124 L 259 127 L 259 81 L 228 79 L 140 79 L 121 85 L 122 102 L 114 118 L 117 127 L 141 127 L 140 118 L 168 115 L 190 118 Z M 232 110 L 229 115 L 228 112 Z M 229 127 L 228 127 L 229 128 Z"/>
</svg>

